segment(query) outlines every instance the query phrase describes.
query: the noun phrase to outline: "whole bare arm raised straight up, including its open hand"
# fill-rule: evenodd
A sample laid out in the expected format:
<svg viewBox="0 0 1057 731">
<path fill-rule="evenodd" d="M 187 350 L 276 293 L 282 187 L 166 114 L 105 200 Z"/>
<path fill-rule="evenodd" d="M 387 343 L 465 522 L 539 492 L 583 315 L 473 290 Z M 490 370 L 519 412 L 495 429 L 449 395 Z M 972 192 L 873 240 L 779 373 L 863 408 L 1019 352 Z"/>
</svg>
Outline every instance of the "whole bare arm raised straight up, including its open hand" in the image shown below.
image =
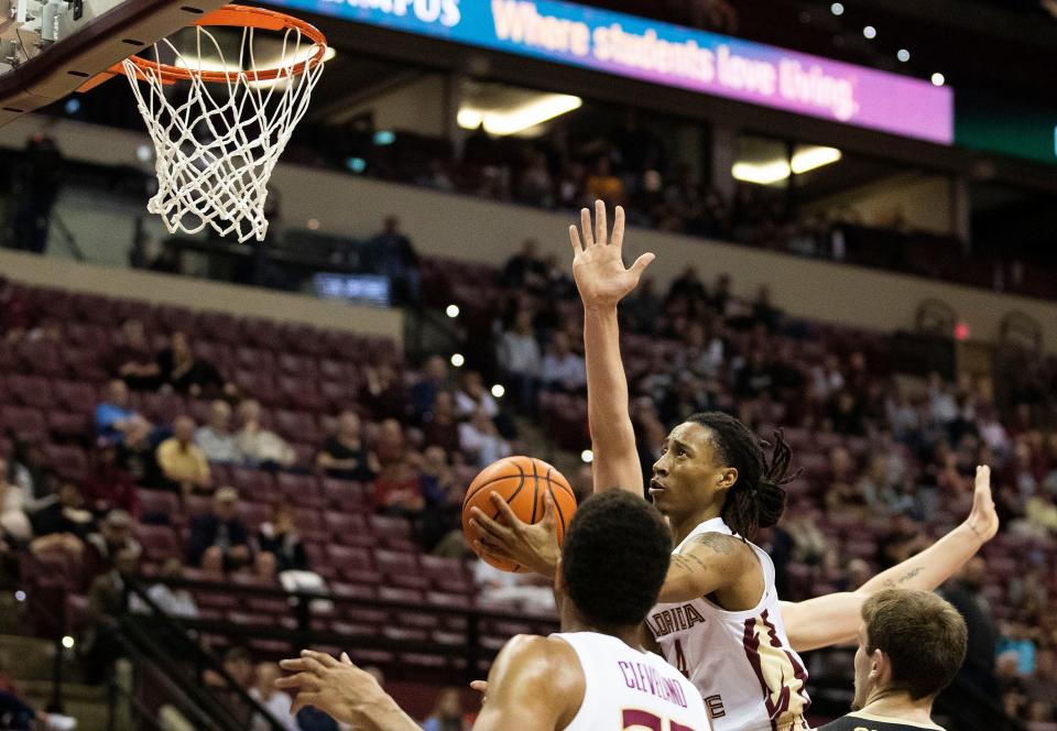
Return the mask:
<svg viewBox="0 0 1057 731">
<path fill-rule="evenodd" d="M 587 366 L 587 415 L 595 451 L 595 492 L 621 489 L 642 493 L 642 467 L 628 410 L 628 379 L 620 358 L 617 304 L 639 284 L 653 254 L 625 270 L 621 258 L 624 209 L 617 206 L 609 237 L 606 205 L 580 211 L 580 232 L 569 227 L 573 275 L 584 302 L 584 352 Z"/>
</svg>

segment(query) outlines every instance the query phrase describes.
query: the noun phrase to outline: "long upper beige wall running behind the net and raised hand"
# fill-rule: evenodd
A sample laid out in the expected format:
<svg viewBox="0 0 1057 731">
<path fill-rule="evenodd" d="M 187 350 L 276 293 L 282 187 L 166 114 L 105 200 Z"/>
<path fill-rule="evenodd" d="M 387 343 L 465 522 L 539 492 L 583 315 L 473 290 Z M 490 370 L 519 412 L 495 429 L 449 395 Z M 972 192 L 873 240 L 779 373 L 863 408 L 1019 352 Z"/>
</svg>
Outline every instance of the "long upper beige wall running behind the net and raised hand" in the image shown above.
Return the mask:
<svg viewBox="0 0 1057 731">
<path fill-rule="evenodd" d="M 20 146 L 36 124 L 22 118 L 0 129 L 0 144 Z M 139 164 L 135 148 L 143 138 L 138 134 L 70 122 L 52 132 L 68 155 Z M 501 264 L 527 237 L 563 260 L 570 255 L 568 214 L 295 165 L 279 165 L 272 179 L 290 227 L 315 218 L 322 231 L 366 237 L 395 212 L 417 249 L 428 255 Z M 794 315 L 880 330 L 913 327 L 918 304 L 938 298 L 969 325 L 973 339 L 994 341 L 1002 316 L 1020 309 L 1043 326 L 1046 348 L 1057 351 L 1057 303 L 656 231 L 630 231 L 625 249 L 629 261 L 644 251 L 656 253 L 650 272 L 661 284 L 694 263 L 706 280 L 722 272 L 733 275 L 737 294 L 753 295 L 769 284 L 774 302 Z"/>
</svg>

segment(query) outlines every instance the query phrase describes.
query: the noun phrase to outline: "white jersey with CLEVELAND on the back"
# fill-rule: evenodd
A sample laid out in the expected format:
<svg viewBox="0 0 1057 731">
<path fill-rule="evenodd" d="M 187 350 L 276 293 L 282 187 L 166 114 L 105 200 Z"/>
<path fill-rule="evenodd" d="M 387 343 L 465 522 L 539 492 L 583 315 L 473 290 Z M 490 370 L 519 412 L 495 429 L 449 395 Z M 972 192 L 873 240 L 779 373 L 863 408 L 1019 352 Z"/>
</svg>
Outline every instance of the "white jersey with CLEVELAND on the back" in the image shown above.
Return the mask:
<svg viewBox="0 0 1057 731">
<path fill-rule="evenodd" d="M 709 731 L 694 685 L 653 653 L 609 634 L 552 634 L 568 643 L 584 668 L 584 702 L 565 731 Z"/>
</svg>

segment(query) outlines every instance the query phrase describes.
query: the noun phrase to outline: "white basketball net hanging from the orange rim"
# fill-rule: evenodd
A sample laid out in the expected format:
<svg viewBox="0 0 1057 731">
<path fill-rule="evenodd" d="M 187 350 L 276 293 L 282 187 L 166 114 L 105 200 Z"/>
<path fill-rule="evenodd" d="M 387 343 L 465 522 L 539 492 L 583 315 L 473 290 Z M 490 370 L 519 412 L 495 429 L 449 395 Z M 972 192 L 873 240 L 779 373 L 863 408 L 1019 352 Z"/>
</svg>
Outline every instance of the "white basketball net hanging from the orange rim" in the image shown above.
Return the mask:
<svg viewBox="0 0 1057 731">
<path fill-rule="evenodd" d="M 279 77 L 257 81 L 252 75 L 258 70 L 254 29 L 242 30 L 239 57 L 237 63 L 228 62 L 230 66 L 213 33 L 200 26 L 195 31 L 193 54 L 181 53 L 167 40 L 154 45 L 155 58 L 162 57 L 157 55 L 160 45 L 175 54 L 175 65 L 190 72 L 189 81 L 164 85 L 156 69 L 124 62 L 137 106 L 154 141 L 157 194 L 146 208 L 162 217 L 171 233 L 197 233 L 211 226 L 239 241 L 252 237 L 261 241 L 268 231 L 268 181 L 308 108 L 323 63 L 293 73 L 316 51 L 316 44 L 297 29 L 286 29 L 280 57 L 260 59 L 266 62 L 266 68 L 280 69 Z M 277 33 L 261 33 L 279 37 Z M 209 61 L 203 61 L 203 51 Z M 218 66 L 230 72 L 227 81 L 204 81 L 196 73 L 218 70 Z"/>
</svg>

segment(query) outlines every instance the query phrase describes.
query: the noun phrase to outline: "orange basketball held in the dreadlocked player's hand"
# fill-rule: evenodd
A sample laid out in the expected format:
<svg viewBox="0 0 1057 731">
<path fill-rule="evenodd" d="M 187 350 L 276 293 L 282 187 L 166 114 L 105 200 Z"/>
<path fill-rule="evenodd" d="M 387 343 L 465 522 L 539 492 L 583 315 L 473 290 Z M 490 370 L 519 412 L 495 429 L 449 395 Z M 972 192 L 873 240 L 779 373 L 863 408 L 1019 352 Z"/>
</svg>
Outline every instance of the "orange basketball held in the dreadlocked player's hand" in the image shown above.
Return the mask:
<svg viewBox="0 0 1057 731">
<path fill-rule="evenodd" d="M 534 457 L 504 457 L 492 462 L 470 482 L 462 501 L 462 534 L 472 546 L 480 532 L 470 525 L 470 509 L 479 508 L 486 515 L 499 520 L 500 513 L 490 495 L 498 493 L 525 523 L 543 520 L 546 509 L 544 495 L 554 500 L 554 522 L 557 526 L 558 544 L 565 536 L 565 530 L 576 512 L 576 495 L 569 481 L 553 466 Z M 482 560 L 504 571 L 524 571 L 524 567 L 483 554 Z"/>
</svg>

